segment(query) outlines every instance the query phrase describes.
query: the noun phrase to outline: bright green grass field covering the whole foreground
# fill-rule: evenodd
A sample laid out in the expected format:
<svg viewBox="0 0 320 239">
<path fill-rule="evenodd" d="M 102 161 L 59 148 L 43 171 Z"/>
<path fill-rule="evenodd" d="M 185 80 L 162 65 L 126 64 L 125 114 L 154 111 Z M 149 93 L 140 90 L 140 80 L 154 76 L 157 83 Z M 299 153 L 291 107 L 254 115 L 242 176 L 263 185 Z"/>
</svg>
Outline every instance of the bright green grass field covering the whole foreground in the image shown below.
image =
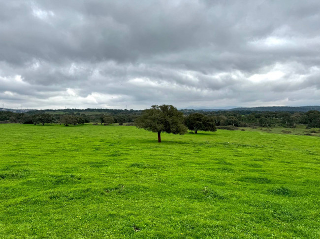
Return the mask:
<svg viewBox="0 0 320 239">
<path fill-rule="evenodd" d="M 0 125 L 0 238 L 320 238 L 320 137 Z"/>
</svg>

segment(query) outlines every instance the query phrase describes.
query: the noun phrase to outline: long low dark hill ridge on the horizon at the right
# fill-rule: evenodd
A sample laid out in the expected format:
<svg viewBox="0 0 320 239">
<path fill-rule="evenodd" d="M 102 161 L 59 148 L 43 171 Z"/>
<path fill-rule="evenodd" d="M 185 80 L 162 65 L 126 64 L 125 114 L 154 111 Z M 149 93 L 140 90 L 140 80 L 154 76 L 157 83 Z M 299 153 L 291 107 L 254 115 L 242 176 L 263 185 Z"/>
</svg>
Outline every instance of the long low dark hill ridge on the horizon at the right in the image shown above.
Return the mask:
<svg viewBox="0 0 320 239">
<path fill-rule="evenodd" d="M 309 110 L 320 111 L 320 106 L 261 106 L 261 107 L 238 107 L 227 109 L 228 111 L 235 110 L 250 110 L 250 111 L 294 111 L 307 112 Z"/>
</svg>

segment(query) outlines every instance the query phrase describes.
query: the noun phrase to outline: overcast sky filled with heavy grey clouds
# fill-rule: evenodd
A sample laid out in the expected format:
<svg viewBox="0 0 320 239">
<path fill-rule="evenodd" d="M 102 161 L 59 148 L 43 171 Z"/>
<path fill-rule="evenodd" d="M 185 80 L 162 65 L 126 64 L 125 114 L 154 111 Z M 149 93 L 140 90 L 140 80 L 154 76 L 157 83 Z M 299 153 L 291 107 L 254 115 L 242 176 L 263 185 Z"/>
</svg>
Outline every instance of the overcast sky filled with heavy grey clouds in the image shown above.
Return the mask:
<svg viewBox="0 0 320 239">
<path fill-rule="evenodd" d="M 0 107 L 320 105 L 319 0 L 0 6 Z"/>
</svg>

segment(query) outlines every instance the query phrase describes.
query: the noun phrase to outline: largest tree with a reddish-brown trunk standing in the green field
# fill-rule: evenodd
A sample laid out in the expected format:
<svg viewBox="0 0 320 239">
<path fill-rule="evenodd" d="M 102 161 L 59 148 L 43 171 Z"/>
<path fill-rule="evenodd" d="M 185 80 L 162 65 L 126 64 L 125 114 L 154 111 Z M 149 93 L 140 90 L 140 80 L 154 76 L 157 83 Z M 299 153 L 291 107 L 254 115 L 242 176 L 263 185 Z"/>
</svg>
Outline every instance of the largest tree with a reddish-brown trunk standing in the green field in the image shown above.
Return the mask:
<svg viewBox="0 0 320 239">
<path fill-rule="evenodd" d="M 145 109 L 136 119 L 136 127 L 158 133 L 158 142 L 161 142 L 161 132 L 185 134 L 187 128 L 183 125 L 183 113 L 174 106 L 151 106 Z"/>
</svg>

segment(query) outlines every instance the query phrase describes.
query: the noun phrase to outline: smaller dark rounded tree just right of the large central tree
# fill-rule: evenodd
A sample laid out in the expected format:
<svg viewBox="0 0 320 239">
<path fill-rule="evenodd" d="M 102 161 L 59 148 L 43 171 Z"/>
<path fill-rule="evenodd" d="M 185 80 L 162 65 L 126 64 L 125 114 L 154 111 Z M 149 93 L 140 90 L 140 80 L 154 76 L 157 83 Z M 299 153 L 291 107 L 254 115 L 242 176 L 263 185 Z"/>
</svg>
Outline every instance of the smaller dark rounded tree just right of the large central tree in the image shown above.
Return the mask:
<svg viewBox="0 0 320 239">
<path fill-rule="evenodd" d="M 190 114 L 185 118 L 185 125 L 189 130 L 197 133 L 200 131 L 217 131 L 216 124 L 213 118 L 209 118 L 200 113 Z"/>
</svg>

